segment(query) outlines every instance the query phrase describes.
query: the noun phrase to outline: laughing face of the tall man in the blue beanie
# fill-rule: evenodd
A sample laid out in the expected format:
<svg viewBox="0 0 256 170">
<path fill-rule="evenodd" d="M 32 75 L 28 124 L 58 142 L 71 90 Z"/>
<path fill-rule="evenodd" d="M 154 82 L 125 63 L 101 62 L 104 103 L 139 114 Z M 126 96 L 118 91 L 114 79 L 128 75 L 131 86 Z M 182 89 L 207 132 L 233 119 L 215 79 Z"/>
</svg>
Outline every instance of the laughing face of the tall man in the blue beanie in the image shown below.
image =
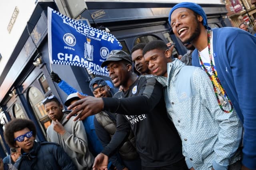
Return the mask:
<svg viewBox="0 0 256 170">
<path fill-rule="evenodd" d="M 188 43 L 198 39 L 202 21 L 202 16 L 195 14 L 192 10 L 177 8 L 172 12 L 170 25 L 175 36 L 183 43 Z"/>
</svg>

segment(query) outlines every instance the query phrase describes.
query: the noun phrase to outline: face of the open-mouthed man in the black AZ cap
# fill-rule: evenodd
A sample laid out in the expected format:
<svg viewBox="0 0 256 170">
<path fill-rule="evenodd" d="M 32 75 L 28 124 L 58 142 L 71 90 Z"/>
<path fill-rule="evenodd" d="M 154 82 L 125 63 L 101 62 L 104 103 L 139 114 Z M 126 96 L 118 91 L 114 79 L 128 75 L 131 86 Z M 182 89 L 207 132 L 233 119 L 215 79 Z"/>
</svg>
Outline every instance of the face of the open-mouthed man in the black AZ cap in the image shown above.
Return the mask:
<svg viewBox="0 0 256 170">
<path fill-rule="evenodd" d="M 115 87 L 119 87 L 120 85 L 126 86 L 130 78 L 129 71 L 132 70 L 132 65 L 125 65 L 122 61 L 111 61 L 107 65 L 107 70 Z"/>
</svg>

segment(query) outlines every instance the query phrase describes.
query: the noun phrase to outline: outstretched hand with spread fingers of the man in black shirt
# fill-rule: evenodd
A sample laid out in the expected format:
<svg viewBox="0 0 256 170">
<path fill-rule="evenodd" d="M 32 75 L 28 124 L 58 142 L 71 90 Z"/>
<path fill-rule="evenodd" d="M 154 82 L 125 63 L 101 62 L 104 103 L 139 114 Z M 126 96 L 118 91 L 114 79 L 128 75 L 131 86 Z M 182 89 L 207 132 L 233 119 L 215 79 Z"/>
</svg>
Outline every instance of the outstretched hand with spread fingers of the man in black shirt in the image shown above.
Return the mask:
<svg viewBox="0 0 256 170">
<path fill-rule="evenodd" d="M 71 110 L 74 107 L 76 108 L 71 113 L 68 114 L 68 116 L 66 117 L 67 119 L 77 114 L 74 121 L 76 120 L 82 121 L 86 117 L 95 115 L 96 113 L 99 113 L 100 111 L 102 111 L 104 107 L 104 102 L 102 98 L 96 98 L 92 96 L 83 96 L 83 95 L 80 95 L 79 93 L 77 94 L 80 100 L 76 101 L 75 103 L 73 103 L 68 107 L 68 110 Z"/>
</svg>

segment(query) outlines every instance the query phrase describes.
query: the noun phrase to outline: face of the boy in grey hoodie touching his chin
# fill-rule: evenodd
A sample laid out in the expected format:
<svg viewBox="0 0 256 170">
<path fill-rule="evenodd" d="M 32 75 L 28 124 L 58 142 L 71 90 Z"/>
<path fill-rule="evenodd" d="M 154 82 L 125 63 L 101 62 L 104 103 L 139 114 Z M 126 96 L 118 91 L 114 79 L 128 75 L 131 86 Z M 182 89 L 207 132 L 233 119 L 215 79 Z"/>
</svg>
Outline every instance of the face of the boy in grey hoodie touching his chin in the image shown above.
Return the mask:
<svg viewBox="0 0 256 170">
<path fill-rule="evenodd" d="M 58 105 L 55 101 L 51 101 L 44 105 L 44 109 L 50 119 L 60 121 L 62 119 L 62 105 Z"/>
</svg>

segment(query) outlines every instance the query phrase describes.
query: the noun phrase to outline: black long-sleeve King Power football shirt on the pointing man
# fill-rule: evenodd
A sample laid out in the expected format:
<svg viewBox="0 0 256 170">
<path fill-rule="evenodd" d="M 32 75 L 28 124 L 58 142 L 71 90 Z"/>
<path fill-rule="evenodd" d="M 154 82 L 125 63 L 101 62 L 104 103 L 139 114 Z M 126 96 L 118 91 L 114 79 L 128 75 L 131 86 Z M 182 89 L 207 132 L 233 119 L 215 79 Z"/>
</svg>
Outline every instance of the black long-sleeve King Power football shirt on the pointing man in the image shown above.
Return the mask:
<svg viewBox="0 0 256 170">
<path fill-rule="evenodd" d="M 104 110 L 119 114 L 116 133 L 102 153 L 114 153 L 131 127 L 142 166 L 167 166 L 184 158 L 178 132 L 167 116 L 162 85 L 154 77 L 142 75 L 128 91 L 103 101 Z"/>
</svg>

